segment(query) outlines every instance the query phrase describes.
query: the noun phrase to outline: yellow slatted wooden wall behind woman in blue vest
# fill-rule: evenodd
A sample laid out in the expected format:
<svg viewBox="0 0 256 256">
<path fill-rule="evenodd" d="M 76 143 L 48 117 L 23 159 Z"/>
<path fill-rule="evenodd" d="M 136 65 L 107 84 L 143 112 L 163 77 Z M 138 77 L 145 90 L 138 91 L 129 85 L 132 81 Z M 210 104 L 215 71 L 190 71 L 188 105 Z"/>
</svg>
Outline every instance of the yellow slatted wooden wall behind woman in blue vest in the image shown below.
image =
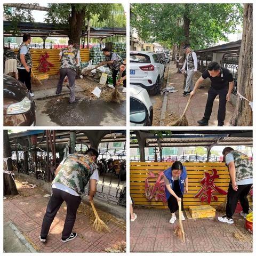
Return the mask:
<svg viewBox="0 0 256 256">
<path fill-rule="evenodd" d="M 184 208 L 188 209 L 189 205 L 207 205 L 206 202 L 201 202 L 199 198 L 194 196 L 201 189 L 202 184 L 200 181 L 204 178 L 204 172 L 207 171 L 212 174 L 212 169 L 217 169 L 220 177 L 215 179 L 214 184 L 218 187 L 228 190 L 229 173 L 225 163 L 183 163 L 186 166 L 188 175 L 188 194 L 184 195 L 183 204 Z M 134 199 L 135 205 L 138 207 L 151 207 L 155 209 L 167 209 L 167 203 L 156 201 L 155 198 L 149 201 L 145 197 L 145 180 L 148 177 L 148 172 L 154 172 L 157 177 L 159 171 L 164 171 L 171 167 L 172 163 L 155 163 L 155 162 L 130 162 L 130 194 Z M 157 178 L 150 179 L 149 185 L 154 186 Z M 157 191 L 159 192 L 159 191 Z M 221 195 L 214 192 L 218 196 L 218 201 L 212 199 L 210 205 L 217 206 L 225 202 L 226 195 Z M 249 203 L 252 205 L 252 198 L 248 196 Z"/>
</svg>

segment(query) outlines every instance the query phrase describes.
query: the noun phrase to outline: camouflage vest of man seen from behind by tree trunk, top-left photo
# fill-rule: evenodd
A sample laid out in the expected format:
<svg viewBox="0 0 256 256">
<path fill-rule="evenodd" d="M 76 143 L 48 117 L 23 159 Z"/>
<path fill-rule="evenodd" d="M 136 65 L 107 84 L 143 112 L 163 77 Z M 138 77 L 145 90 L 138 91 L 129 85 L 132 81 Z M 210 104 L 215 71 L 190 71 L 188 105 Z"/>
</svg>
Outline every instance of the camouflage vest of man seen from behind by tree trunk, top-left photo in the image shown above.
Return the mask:
<svg viewBox="0 0 256 256">
<path fill-rule="evenodd" d="M 73 46 L 68 46 L 61 49 L 60 69 L 71 68 L 76 70 L 77 54 L 78 50 Z"/>
</svg>

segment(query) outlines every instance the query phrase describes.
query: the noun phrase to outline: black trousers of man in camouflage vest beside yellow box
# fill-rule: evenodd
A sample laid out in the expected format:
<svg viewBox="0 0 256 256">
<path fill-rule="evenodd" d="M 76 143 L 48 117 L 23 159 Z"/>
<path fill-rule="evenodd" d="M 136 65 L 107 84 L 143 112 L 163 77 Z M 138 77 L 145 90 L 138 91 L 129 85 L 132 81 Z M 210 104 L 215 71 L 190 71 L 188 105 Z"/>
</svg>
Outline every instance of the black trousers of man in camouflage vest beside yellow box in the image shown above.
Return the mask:
<svg viewBox="0 0 256 256">
<path fill-rule="evenodd" d="M 252 184 L 249 185 L 238 185 L 237 191 L 232 188 L 232 185 L 228 186 L 228 196 L 227 196 L 227 205 L 226 205 L 226 215 L 228 218 L 232 218 L 235 213 L 238 200 L 243 208 L 245 214 L 249 211 L 249 202 L 247 195 L 252 187 Z"/>
</svg>

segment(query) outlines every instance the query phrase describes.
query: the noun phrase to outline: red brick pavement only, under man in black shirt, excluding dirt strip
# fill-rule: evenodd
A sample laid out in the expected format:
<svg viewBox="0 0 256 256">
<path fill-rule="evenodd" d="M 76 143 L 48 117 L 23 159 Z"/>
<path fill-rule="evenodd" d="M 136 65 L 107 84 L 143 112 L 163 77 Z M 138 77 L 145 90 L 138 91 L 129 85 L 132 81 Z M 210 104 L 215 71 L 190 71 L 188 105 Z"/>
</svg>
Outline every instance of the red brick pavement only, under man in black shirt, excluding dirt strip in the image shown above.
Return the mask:
<svg viewBox="0 0 256 256">
<path fill-rule="evenodd" d="M 170 63 L 169 75 L 171 77 L 170 79 L 171 83 L 169 85 L 174 86 L 175 89 L 178 90 L 178 92 L 169 93 L 168 95 L 167 109 L 166 109 L 166 115 L 165 115 L 166 119 L 169 117 L 168 115 L 171 112 L 177 113 L 179 116 L 181 116 L 189 98 L 189 96 L 187 97 L 182 96 L 182 93 L 184 91 L 183 90 L 184 75 L 177 74 L 177 68 L 176 68 L 176 65 L 173 64 L 173 62 Z M 197 76 L 197 78 L 198 77 L 199 76 Z M 194 76 L 194 84 L 196 83 L 197 78 L 196 76 Z M 197 121 L 203 118 L 208 90 L 209 90 L 208 88 L 203 88 L 203 87 L 201 89 L 198 89 L 193 99 L 191 100 L 190 106 L 186 113 L 189 126 L 198 126 Z M 209 126 L 218 125 L 218 120 L 217 120 L 218 107 L 219 107 L 219 99 L 215 99 L 213 103 L 212 115 L 209 121 Z M 230 102 L 227 102 L 225 126 L 229 125 L 229 121 L 230 121 L 231 115 L 234 112 L 234 109 L 235 107 L 231 105 Z M 167 122 L 167 123 L 170 123 L 170 122 Z"/>
</svg>

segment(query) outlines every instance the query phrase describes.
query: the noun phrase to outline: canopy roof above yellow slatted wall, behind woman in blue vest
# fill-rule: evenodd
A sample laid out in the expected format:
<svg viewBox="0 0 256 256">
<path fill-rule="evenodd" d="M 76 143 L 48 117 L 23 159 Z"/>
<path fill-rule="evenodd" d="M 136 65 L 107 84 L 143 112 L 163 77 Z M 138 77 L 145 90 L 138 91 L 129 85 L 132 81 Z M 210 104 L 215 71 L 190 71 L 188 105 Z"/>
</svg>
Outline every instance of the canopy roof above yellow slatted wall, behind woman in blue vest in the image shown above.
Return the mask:
<svg viewBox="0 0 256 256">
<path fill-rule="evenodd" d="M 145 138 L 145 147 L 189 147 L 189 146 L 249 146 L 252 147 L 252 131 L 171 131 L 166 135 L 163 131 L 159 138 L 154 131 L 140 131 Z M 139 148 L 134 131 L 131 131 L 130 147 Z"/>
</svg>

